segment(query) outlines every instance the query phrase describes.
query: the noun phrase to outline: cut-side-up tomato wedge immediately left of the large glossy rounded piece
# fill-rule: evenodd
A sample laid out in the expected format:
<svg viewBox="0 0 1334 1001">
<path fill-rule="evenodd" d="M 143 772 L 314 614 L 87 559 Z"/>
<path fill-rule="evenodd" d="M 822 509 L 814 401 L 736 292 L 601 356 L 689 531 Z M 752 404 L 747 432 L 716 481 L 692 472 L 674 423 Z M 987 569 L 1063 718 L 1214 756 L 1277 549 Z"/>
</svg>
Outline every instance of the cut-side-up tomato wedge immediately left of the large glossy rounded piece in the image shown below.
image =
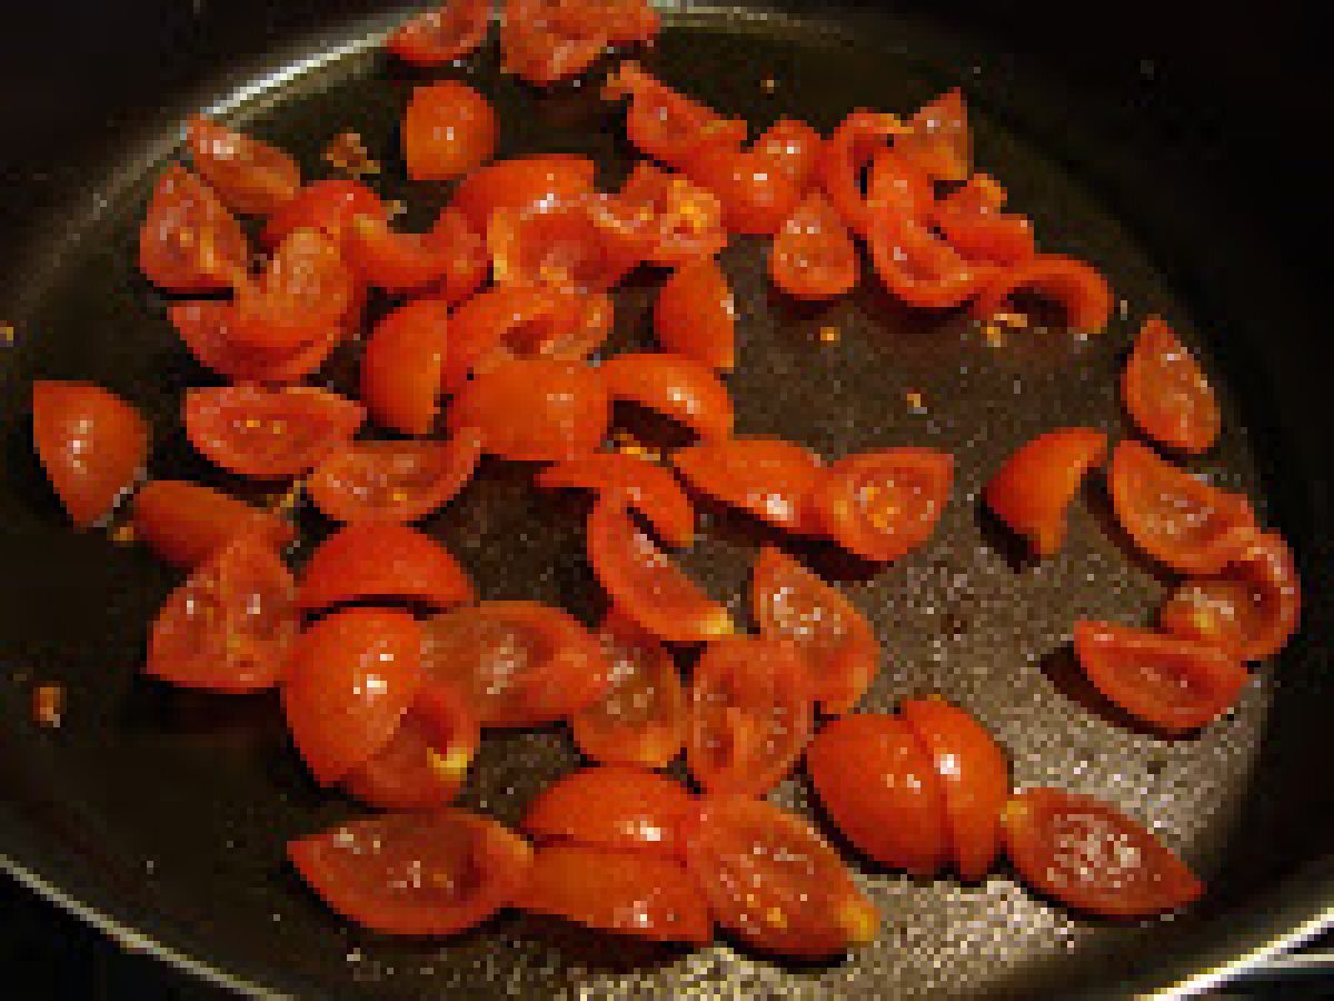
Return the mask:
<svg viewBox="0 0 1334 1001">
<path fill-rule="evenodd" d="M 189 689 L 259 691 L 281 681 L 299 627 L 292 575 L 268 539 L 243 534 L 167 598 L 144 671 Z"/>
</svg>

